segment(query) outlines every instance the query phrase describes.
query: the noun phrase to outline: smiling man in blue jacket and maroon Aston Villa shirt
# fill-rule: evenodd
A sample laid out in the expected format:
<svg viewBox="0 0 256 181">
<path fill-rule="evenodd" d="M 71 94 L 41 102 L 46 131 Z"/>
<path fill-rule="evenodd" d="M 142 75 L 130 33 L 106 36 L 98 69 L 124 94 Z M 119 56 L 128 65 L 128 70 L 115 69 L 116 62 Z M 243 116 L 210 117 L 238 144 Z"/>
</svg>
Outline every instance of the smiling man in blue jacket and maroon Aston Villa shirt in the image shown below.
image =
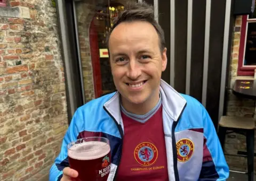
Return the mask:
<svg viewBox="0 0 256 181">
<path fill-rule="evenodd" d="M 229 169 L 206 110 L 161 80 L 167 57 L 153 8 L 125 7 L 108 41 L 118 91 L 77 109 L 50 180 L 77 177 L 68 167 L 66 145 L 99 135 L 110 140 L 108 180 L 226 180 Z"/>
</svg>

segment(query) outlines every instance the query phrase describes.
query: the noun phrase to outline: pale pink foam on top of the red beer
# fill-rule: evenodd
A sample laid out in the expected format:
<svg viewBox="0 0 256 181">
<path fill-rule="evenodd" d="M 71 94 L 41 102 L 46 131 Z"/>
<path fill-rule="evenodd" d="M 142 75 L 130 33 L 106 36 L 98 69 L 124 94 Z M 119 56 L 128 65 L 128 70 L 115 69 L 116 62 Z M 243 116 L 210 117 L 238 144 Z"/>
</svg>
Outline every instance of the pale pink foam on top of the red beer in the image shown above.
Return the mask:
<svg viewBox="0 0 256 181">
<path fill-rule="evenodd" d="M 68 156 L 76 160 L 94 160 L 106 156 L 110 146 L 100 141 L 75 144 L 68 149 Z"/>
</svg>

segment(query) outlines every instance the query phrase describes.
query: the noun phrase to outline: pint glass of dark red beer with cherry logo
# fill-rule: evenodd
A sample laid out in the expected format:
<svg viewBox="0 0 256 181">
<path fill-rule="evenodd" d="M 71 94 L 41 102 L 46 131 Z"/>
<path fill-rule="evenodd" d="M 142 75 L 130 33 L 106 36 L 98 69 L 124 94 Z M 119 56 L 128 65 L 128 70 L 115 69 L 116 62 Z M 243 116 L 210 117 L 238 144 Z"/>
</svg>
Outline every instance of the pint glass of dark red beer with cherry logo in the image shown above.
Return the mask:
<svg viewBox="0 0 256 181">
<path fill-rule="evenodd" d="M 105 137 L 85 137 L 68 144 L 70 168 L 78 171 L 75 181 L 107 181 L 110 145 Z"/>
</svg>

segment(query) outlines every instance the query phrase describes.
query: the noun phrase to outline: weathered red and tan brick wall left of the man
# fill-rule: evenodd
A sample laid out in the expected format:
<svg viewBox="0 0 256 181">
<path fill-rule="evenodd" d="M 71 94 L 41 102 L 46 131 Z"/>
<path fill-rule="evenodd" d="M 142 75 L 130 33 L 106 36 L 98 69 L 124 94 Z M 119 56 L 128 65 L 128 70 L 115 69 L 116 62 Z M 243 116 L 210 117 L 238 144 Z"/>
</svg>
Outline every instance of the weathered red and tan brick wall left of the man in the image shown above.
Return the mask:
<svg viewBox="0 0 256 181">
<path fill-rule="evenodd" d="M 68 126 L 57 13 L 51 0 L 0 8 L 0 180 L 26 180 L 52 165 Z"/>
</svg>

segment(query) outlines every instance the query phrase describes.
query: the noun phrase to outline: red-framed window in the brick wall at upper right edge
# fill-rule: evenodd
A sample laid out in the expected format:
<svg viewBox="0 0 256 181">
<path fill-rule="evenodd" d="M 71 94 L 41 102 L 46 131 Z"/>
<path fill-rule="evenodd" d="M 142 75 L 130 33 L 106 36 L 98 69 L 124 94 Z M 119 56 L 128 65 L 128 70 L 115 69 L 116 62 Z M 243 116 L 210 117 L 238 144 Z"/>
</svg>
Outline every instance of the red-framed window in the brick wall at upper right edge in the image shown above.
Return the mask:
<svg viewBox="0 0 256 181">
<path fill-rule="evenodd" d="M 253 75 L 256 69 L 256 12 L 243 15 L 237 75 Z"/>
</svg>

